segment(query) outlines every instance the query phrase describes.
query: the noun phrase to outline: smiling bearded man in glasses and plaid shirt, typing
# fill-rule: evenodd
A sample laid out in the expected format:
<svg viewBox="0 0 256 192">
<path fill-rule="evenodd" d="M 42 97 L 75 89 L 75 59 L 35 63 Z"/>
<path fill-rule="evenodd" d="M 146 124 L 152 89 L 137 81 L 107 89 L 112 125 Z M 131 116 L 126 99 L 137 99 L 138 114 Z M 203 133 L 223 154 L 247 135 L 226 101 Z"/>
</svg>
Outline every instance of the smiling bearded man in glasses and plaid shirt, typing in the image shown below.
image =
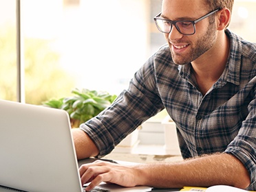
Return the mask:
<svg viewBox="0 0 256 192">
<path fill-rule="evenodd" d="M 178 129 L 181 163 L 83 165 L 87 190 L 125 187 L 256 190 L 256 46 L 226 27 L 233 0 L 163 0 L 155 21 L 168 45 L 141 67 L 107 110 L 73 130 L 78 158 L 104 156 L 163 108 Z"/>
</svg>

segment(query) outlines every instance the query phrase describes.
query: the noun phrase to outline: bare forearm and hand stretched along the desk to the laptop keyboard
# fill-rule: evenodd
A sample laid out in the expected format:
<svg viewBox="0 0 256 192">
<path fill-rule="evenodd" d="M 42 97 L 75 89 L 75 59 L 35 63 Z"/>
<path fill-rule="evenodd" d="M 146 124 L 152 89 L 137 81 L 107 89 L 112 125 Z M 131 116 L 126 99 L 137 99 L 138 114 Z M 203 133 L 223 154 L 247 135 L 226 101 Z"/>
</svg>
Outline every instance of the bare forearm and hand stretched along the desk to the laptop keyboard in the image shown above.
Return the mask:
<svg viewBox="0 0 256 192">
<path fill-rule="evenodd" d="M 214 184 L 246 188 L 250 184 L 248 171 L 230 154 L 193 158 L 181 163 L 156 163 L 131 167 L 98 162 L 83 165 L 80 173 L 83 183 L 92 181 L 87 190 L 96 187 L 102 181 L 125 187 L 149 185 L 159 188 L 209 187 Z"/>
</svg>

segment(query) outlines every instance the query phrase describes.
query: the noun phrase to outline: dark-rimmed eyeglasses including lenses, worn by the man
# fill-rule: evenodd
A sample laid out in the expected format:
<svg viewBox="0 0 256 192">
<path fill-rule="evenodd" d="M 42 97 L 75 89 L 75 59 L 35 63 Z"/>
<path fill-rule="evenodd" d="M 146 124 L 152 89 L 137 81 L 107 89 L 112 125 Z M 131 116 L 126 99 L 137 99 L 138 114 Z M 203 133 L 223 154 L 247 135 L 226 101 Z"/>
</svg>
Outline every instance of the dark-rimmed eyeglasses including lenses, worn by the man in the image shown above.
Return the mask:
<svg viewBox="0 0 256 192">
<path fill-rule="evenodd" d="M 189 36 L 189 35 L 195 34 L 195 23 L 198 23 L 199 21 L 206 19 L 206 17 L 211 16 L 218 10 L 220 9 L 209 12 L 208 14 L 201 16 L 199 19 L 196 19 L 195 21 L 171 21 L 169 19 L 163 19 L 163 18 L 160 18 L 160 15 L 162 14 L 162 12 L 160 12 L 160 14 L 155 16 L 153 20 L 155 21 L 156 27 L 158 27 L 158 30 L 164 34 L 169 34 L 174 25 L 178 30 L 178 32 Z"/>
</svg>

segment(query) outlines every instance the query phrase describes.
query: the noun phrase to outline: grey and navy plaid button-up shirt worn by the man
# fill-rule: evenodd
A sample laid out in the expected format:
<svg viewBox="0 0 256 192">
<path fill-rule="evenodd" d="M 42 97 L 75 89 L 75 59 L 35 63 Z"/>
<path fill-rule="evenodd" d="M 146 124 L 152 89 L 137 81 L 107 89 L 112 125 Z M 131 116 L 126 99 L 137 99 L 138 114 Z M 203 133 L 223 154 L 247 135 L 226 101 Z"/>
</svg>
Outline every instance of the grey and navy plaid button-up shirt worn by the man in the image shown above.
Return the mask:
<svg viewBox="0 0 256 192">
<path fill-rule="evenodd" d="M 114 104 L 81 125 L 104 156 L 163 108 L 175 121 L 183 158 L 226 152 L 244 163 L 256 190 L 256 45 L 228 29 L 226 69 L 200 93 L 191 64 L 173 63 L 164 45 L 135 73 Z M 220 47 L 221 49 L 221 47 Z"/>
</svg>

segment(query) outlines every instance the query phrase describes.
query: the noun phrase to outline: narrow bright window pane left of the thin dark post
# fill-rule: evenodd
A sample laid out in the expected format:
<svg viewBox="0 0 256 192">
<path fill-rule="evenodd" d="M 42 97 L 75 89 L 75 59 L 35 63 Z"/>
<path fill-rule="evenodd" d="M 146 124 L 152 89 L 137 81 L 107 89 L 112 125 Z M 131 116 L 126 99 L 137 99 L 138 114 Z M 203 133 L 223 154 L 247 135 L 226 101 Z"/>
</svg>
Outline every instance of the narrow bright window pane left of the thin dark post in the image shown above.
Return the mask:
<svg viewBox="0 0 256 192">
<path fill-rule="evenodd" d="M 0 99 L 17 99 L 16 1 L 0 0 Z"/>
</svg>

